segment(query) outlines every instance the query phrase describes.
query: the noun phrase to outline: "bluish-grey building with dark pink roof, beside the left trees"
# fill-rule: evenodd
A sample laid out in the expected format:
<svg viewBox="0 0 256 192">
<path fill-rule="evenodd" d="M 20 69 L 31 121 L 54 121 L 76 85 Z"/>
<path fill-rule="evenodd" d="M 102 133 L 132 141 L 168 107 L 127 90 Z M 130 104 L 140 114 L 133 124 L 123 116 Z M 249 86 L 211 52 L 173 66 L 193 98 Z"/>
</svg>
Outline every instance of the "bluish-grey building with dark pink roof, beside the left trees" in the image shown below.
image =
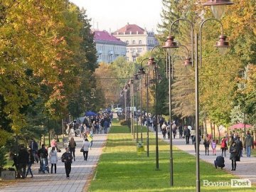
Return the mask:
<svg viewBox="0 0 256 192">
<path fill-rule="evenodd" d="M 93 31 L 96 43 L 97 62 L 111 63 L 119 56 L 126 55 L 127 44 L 107 31 Z"/>
</svg>

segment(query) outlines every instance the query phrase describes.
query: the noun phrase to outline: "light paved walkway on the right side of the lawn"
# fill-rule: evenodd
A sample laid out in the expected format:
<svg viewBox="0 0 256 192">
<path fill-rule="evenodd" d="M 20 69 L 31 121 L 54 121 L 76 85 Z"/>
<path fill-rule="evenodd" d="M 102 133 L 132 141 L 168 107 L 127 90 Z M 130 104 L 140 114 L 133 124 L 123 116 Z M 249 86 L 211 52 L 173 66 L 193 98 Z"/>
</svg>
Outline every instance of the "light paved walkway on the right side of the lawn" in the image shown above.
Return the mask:
<svg viewBox="0 0 256 192">
<path fill-rule="evenodd" d="M 151 127 L 150 129 L 151 131 L 153 131 Z M 161 139 L 163 138 L 160 132 L 160 129 L 159 129 L 159 138 Z M 195 146 L 192 144 L 191 139 L 189 141 L 190 144 L 186 144 L 185 139 L 177 139 L 177 138 L 178 138 L 178 134 L 176 136 L 176 139 L 173 139 L 174 146 L 176 146 L 178 149 L 182 151 L 186 151 L 188 154 L 192 154 L 196 156 Z M 164 140 L 166 142 L 169 142 L 169 139 L 164 139 Z M 213 151 L 211 147 L 209 147 L 209 151 L 210 151 L 209 156 L 206 156 L 205 148 L 202 140 L 200 145 L 200 159 L 210 164 L 213 164 L 216 157 L 221 155 L 220 147 L 217 146 L 216 148 L 216 156 L 213 156 L 212 154 Z M 233 174 L 234 176 L 238 176 L 238 178 L 248 178 L 252 183 L 256 183 L 256 157 L 254 156 L 247 157 L 246 154 L 244 154 L 244 156 L 241 156 L 240 161 L 237 162 L 236 171 L 231 171 L 232 166 L 231 166 L 231 160 L 229 158 L 230 158 L 230 153 L 228 150 L 225 157 L 225 167 L 224 167 L 225 171 L 228 171 L 228 173 Z M 174 159 L 175 159 L 175 155 L 174 155 Z"/>
</svg>

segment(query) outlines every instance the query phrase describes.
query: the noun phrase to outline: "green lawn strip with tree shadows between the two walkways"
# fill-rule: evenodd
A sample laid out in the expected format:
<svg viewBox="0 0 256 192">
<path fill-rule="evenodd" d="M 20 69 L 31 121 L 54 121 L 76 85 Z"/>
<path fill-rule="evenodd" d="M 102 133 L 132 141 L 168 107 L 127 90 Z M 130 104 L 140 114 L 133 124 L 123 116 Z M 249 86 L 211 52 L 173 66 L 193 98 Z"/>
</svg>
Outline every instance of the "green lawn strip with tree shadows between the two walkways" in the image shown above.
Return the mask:
<svg viewBox="0 0 256 192">
<path fill-rule="evenodd" d="M 139 129 L 140 130 L 140 129 Z M 144 129 L 145 131 L 146 129 Z M 140 134 L 139 134 L 140 138 Z M 146 138 L 146 132 L 144 132 Z M 195 191 L 196 158 L 174 149 L 174 188 L 169 186 L 169 144 L 159 140 L 159 171 L 156 171 L 155 138 L 150 133 L 149 157 L 137 155 L 127 127 L 114 123 L 88 191 Z M 146 139 L 144 139 L 146 146 Z M 201 191 L 255 191 L 230 187 L 203 187 L 203 180 L 230 182 L 234 176 L 201 161 Z"/>
</svg>

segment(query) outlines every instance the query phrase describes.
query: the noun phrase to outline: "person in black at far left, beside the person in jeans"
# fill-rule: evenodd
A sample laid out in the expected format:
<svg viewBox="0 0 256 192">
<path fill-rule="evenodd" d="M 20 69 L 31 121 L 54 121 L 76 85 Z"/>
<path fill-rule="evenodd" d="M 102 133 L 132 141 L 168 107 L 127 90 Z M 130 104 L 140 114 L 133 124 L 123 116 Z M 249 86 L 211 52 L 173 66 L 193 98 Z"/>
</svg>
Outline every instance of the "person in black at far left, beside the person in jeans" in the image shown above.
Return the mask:
<svg viewBox="0 0 256 192">
<path fill-rule="evenodd" d="M 23 145 L 21 145 L 20 151 L 18 151 L 18 172 L 21 174 L 21 178 L 26 176 L 26 166 L 28 164 L 28 151 Z"/>
</svg>

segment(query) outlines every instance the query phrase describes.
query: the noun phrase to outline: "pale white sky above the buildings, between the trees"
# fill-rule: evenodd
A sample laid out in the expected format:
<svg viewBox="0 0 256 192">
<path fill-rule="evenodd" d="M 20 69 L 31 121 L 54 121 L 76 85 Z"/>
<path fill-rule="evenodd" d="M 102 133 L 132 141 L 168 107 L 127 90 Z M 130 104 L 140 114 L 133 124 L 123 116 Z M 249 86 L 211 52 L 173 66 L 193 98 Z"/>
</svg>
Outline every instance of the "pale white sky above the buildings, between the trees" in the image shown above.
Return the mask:
<svg viewBox="0 0 256 192">
<path fill-rule="evenodd" d="M 114 32 L 127 23 L 156 32 L 161 0 L 70 0 L 86 10 L 92 28 Z"/>
</svg>

